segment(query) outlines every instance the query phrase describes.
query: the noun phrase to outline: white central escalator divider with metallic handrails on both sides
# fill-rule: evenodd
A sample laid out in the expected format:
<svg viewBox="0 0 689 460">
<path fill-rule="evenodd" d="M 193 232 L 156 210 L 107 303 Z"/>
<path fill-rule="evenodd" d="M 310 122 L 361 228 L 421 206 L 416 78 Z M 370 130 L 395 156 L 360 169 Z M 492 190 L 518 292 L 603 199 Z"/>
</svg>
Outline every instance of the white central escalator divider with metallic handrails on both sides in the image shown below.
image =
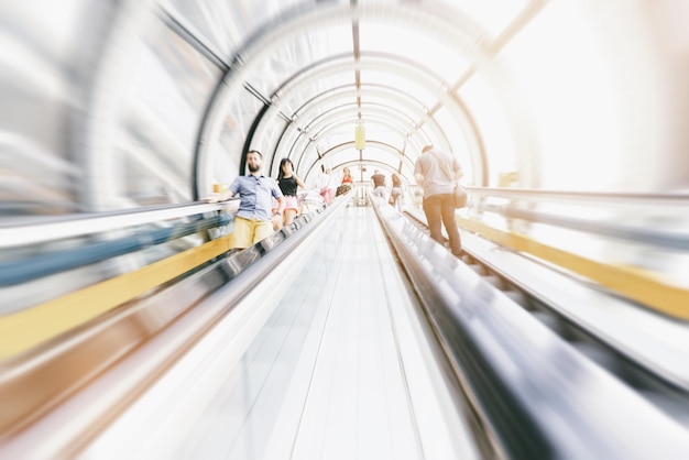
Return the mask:
<svg viewBox="0 0 689 460">
<path fill-rule="evenodd" d="M 687 447 L 680 424 L 518 307 L 523 286 L 486 261 L 472 269 L 478 252 L 462 262 L 418 220 L 358 198 L 3 362 L 3 405 L 35 399 L 37 380 L 70 379 L 6 424 L 0 458 L 648 458 Z"/>
</svg>

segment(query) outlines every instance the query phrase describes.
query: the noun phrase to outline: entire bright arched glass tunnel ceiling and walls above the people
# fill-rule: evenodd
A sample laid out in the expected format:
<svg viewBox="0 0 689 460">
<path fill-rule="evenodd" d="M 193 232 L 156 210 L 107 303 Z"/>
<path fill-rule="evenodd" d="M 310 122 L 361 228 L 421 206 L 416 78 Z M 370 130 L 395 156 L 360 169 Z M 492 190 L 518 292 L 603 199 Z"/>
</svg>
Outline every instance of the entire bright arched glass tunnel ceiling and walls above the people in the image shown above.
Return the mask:
<svg viewBox="0 0 689 460">
<path fill-rule="evenodd" d="M 309 179 L 348 164 L 409 180 L 434 143 L 473 186 L 667 193 L 689 180 L 683 2 L 10 3 L 8 215 L 187 202 L 242 174 L 250 147 L 266 174 L 289 155 Z"/>
</svg>

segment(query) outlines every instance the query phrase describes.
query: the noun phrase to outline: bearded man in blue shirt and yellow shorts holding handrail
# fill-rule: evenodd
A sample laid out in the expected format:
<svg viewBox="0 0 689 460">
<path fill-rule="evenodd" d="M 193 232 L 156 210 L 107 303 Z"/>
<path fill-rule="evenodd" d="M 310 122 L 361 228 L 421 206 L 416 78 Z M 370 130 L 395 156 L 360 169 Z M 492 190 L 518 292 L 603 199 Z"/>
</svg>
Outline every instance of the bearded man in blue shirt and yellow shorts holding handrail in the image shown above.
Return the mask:
<svg viewBox="0 0 689 460">
<path fill-rule="evenodd" d="M 282 227 L 285 198 L 275 179 L 261 174 L 263 155 L 251 150 L 247 153 L 249 174 L 237 177 L 227 191 L 206 201 L 226 201 L 239 195 L 239 209 L 234 216 L 232 248 L 249 248 L 270 237 L 274 228 Z M 277 211 L 273 215 L 273 197 L 277 199 Z"/>
</svg>

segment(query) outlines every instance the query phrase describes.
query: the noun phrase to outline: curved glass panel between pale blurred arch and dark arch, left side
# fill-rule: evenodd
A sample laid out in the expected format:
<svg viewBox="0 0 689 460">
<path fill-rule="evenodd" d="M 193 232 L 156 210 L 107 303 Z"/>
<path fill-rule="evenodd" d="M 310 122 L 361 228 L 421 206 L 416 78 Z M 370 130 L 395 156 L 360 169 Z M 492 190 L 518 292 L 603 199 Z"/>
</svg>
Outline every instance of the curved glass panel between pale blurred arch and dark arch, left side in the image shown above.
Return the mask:
<svg viewBox="0 0 689 460">
<path fill-rule="evenodd" d="M 121 111 L 117 186 L 138 205 L 190 200 L 199 122 L 220 70 L 164 26 L 139 63 Z"/>
</svg>

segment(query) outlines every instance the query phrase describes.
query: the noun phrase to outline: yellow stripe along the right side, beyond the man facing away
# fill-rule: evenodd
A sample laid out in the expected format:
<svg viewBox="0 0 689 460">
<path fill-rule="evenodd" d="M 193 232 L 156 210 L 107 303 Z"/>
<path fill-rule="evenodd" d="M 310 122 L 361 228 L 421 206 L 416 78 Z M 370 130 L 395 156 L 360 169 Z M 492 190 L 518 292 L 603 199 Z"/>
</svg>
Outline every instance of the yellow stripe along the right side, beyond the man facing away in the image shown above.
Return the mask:
<svg viewBox="0 0 689 460">
<path fill-rule="evenodd" d="M 649 308 L 680 319 L 689 319 L 689 289 L 661 280 L 656 273 L 635 266 L 610 265 L 571 252 L 542 244 L 527 237 L 504 232 L 463 217 L 458 224 L 495 243 L 533 254 Z"/>
</svg>

